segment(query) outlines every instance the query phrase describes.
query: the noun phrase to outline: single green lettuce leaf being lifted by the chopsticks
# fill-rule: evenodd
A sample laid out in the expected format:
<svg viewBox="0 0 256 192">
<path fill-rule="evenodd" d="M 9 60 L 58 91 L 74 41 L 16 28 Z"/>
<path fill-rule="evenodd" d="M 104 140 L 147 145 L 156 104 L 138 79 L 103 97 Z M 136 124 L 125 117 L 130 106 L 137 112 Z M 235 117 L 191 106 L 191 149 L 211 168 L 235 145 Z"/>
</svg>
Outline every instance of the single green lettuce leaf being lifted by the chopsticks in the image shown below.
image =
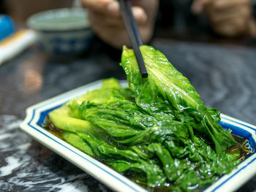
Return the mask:
<svg viewBox="0 0 256 192">
<path fill-rule="evenodd" d="M 136 104 L 152 115 L 171 112 L 177 120 L 190 123 L 192 128 L 203 131 L 214 142 L 219 156 L 225 155 L 227 147 L 235 144 L 229 131 L 218 125 L 212 115 L 219 111 L 208 110 L 189 80 L 170 64 L 165 55 L 153 47 L 140 47 L 148 71 L 148 78 L 140 75 L 133 50 L 124 47 L 121 66 L 127 74 L 129 87 L 135 93 Z"/>
</svg>

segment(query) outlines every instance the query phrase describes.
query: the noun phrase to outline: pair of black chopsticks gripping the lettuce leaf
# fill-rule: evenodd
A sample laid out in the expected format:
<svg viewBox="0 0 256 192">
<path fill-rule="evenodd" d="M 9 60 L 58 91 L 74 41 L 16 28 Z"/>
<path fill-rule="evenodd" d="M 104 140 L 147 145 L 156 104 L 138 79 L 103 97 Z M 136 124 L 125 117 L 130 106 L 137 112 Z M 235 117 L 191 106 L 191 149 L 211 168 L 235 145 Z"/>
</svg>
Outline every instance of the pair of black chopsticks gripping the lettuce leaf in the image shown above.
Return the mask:
<svg viewBox="0 0 256 192">
<path fill-rule="evenodd" d="M 140 37 L 140 31 L 138 29 L 138 25 L 132 14 L 132 6 L 129 0 L 119 0 L 119 3 L 121 8 L 121 15 L 124 20 L 124 25 L 127 28 L 129 40 L 132 42 L 132 48 L 135 51 L 135 56 L 140 69 L 140 74 L 143 78 L 146 78 L 148 77 L 148 72 L 146 70 L 143 57 L 140 53 L 140 45 L 143 45 L 143 42 Z"/>
</svg>

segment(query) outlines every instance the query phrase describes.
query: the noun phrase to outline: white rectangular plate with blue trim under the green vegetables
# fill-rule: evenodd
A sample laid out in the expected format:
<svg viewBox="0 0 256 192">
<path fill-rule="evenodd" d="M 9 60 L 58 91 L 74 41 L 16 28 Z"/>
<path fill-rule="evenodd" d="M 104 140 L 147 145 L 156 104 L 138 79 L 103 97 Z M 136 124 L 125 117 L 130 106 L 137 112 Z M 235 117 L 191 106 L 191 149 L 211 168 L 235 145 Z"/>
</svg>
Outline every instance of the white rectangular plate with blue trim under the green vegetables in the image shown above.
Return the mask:
<svg viewBox="0 0 256 192">
<path fill-rule="evenodd" d="M 126 81 L 121 81 L 120 84 L 124 87 L 127 86 Z M 89 155 L 86 155 L 75 147 L 72 147 L 67 142 L 64 142 L 64 140 L 51 134 L 45 128 L 42 128 L 42 125 L 45 122 L 45 117 L 50 111 L 60 107 L 70 99 L 85 94 L 87 91 L 100 88 L 101 85 L 101 80 L 92 82 L 89 85 L 84 85 L 29 107 L 26 110 L 25 120 L 20 124 L 20 128 L 34 139 L 37 139 L 38 142 L 41 142 L 42 145 L 49 147 L 51 150 L 66 158 L 68 161 L 72 162 L 72 164 L 80 167 L 80 169 L 91 174 L 92 177 L 105 185 L 108 185 L 108 187 L 113 190 L 121 192 L 146 191 L 146 189 L 132 182 L 132 180 L 129 180 L 127 177 L 110 169 L 108 166 L 105 166 L 105 164 L 91 158 Z M 242 161 L 233 172 L 221 177 L 204 191 L 234 191 L 246 183 L 246 181 L 256 173 L 256 127 L 244 123 L 241 120 L 230 118 L 227 115 L 222 114 L 221 118 L 220 125 L 223 128 L 230 128 L 233 131 L 233 134 L 246 138 L 246 147 L 249 150 L 252 150 L 252 155 L 246 158 L 245 161 Z"/>
</svg>

